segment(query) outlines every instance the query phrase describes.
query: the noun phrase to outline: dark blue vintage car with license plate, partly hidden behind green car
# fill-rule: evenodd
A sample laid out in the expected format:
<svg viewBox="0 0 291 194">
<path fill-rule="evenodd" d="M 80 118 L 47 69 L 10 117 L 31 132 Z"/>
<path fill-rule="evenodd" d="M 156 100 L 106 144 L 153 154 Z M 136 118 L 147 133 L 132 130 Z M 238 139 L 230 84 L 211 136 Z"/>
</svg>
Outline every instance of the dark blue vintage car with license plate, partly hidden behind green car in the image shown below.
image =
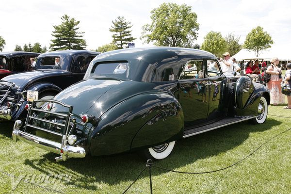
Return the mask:
<svg viewBox="0 0 291 194">
<path fill-rule="evenodd" d="M 0 119 L 25 119 L 27 112 L 24 109 L 29 101 L 52 98 L 82 80 L 89 63 L 98 54 L 87 50 L 43 53 L 38 56 L 34 71 L 1 79 Z"/>
</svg>

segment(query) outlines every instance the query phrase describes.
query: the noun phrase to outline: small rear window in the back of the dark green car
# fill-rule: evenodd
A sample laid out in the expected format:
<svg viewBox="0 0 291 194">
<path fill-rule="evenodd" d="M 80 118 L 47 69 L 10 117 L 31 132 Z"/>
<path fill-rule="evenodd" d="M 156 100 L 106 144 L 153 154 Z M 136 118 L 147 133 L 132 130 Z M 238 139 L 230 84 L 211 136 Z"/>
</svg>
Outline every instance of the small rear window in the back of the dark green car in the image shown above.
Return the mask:
<svg viewBox="0 0 291 194">
<path fill-rule="evenodd" d="M 128 62 L 97 63 L 93 67 L 92 74 L 123 74 L 128 68 Z"/>
</svg>

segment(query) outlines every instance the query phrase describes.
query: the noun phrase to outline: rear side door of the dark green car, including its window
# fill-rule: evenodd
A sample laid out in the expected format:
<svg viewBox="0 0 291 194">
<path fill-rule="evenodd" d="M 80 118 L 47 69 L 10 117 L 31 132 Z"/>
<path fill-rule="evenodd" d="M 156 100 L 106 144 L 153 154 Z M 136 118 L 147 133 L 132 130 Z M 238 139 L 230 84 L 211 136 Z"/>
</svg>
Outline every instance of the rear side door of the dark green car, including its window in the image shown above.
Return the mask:
<svg viewBox="0 0 291 194">
<path fill-rule="evenodd" d="M 185 129 L 205 123 L 208 116 L 209 88 L 203 60 L 185 65 L 178 81 L 179 103 L 184 113 Z"/>
</svg>

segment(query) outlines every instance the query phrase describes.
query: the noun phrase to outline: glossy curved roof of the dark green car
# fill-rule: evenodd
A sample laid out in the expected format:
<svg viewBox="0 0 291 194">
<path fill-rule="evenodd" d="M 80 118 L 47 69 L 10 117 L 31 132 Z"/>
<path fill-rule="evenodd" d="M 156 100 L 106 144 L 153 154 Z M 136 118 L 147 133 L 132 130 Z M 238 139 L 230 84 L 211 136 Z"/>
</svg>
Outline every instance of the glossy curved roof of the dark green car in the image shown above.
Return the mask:
<svg viewBox="0 0 291 194">
<path fill-rule="evenodd" d="M 161 81 L 164 71 L 173 71 L 179 75 L 181 69 L 189 60 L 217 58 L 210 52 L 199 49 L 176 48 L 176 47 L 150 47 L 119 49 L 98 55 L 90 65 L 93 68 L 96 63 L 127 61 L 129 71 L 124 78 L 134 81 L 154 82 Z M 90 71 L 86 72 L 85 78 L 90 77 Z"/>
</svg>

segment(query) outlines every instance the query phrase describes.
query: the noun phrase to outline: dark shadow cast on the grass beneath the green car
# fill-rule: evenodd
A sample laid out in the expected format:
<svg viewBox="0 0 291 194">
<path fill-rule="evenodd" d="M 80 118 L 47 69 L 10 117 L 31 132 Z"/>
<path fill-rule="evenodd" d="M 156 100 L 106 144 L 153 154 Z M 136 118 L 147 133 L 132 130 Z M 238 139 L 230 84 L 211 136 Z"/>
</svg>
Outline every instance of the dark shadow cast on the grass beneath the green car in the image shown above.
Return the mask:
<svg viewBox="0 0 291 194">
<path fill-rule="evenodd" d="M 280 125 L 281 122 L 268 118 L 264 124 L 250 125 L 242 122 L 221 129 L 195 135 L 179 140 L 173 153 L 166 159 L 155 161 L 154 164 L 167 169 L 176 168 L 193 163 L 200 159 L 216 156 L 236 146 L 241 145 L 249 134 L 262 132 Z M 250 150 L 250 152 L 253 150 Z M 69 159 L 66 162 L 55 163 L 53 158 L 58 155 L 48 153 L 42 159 L 25 160 L 25 165 L 44 174 L 70 174 L 71 181 L 67 185 L 75 185 L 78 188 L 97 190 L 97 182 L 110 185 L 123 181 L 133 181 L 146 166 L 146 162 L 138 157 L 137 153 L 125 153 L 113 156 L 91 157 L 89 154 L 83 159 Z M 155 169 L 152 174 L 167 173 Z M 148 171 L 140 178 L 148 177 Z M 126 188 L 125 188 L 126 189 Z"/>
</svg>

